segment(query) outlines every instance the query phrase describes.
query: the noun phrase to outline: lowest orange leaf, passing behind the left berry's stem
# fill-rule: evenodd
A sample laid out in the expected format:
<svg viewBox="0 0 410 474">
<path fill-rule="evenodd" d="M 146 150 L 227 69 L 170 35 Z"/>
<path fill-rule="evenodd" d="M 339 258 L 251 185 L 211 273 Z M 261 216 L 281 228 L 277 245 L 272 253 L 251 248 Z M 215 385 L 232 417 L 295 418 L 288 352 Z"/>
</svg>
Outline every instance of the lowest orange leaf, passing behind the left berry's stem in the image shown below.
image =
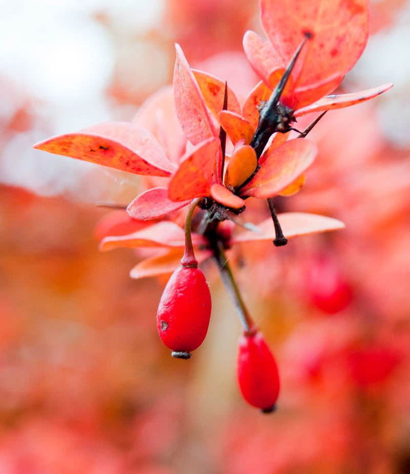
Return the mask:
<svg viewBox="0 0 410 474">
<path fill-rule="evenodd" d="M 138 279 L 172 273 L 181 265 L 182 255 L 182 249 L 171 249 L 166 254 L 143 260 L 130 271 L 130 277 Z M 195 258 L 198 263 L 204 262 L 211 256 L 212 250 L 195 250 Z"/>
</svg>

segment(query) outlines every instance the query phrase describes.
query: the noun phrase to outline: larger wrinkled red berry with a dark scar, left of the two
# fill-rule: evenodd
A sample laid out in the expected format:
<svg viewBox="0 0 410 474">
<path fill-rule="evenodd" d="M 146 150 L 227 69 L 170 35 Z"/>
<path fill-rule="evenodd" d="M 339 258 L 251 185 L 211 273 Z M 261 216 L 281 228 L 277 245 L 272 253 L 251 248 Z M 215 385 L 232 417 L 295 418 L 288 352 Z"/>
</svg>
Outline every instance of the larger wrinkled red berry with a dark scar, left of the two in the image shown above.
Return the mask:
<svg viewBox="0 0 410 474">
<path fill-rule="evenodd" d="M 189 359 L 207 335 L 211 316 L 211 293 L 199 268 L 180 266 L 171 275 L 157 311 L 162 342 L 172 356 Z"/>
</svg>

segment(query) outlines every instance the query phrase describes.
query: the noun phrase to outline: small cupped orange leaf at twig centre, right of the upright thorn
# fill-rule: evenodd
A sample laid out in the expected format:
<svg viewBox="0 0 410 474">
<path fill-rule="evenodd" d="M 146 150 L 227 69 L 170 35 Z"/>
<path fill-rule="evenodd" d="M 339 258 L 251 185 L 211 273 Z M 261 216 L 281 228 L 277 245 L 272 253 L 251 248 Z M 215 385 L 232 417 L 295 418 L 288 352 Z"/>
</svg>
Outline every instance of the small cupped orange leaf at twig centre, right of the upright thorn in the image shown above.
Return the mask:
<svg viewBox="0 0 410 474">
<path fill-rule="evenodd" d="M 225 186 L 237 188 L 251 176 L 257 166 L 258 159 L 251 146 L 236 146 L 225 172 Z"/>
</svg>

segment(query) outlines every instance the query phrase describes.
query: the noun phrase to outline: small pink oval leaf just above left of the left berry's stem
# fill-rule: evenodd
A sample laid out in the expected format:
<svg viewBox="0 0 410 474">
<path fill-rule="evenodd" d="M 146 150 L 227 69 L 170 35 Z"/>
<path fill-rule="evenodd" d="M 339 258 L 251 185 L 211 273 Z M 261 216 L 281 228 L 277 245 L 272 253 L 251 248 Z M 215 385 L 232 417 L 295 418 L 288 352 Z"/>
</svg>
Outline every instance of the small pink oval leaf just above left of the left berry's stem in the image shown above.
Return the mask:
<svg viewBox="0 0 410 474">
<path fill-rule="evenodd" d="M 168 199 L 168 188 L 152 188 L 137 196 L 127 207 L 133 219 L 158 219 L 187 206 L 191 201 L 176 203 Z"/>
</svg>

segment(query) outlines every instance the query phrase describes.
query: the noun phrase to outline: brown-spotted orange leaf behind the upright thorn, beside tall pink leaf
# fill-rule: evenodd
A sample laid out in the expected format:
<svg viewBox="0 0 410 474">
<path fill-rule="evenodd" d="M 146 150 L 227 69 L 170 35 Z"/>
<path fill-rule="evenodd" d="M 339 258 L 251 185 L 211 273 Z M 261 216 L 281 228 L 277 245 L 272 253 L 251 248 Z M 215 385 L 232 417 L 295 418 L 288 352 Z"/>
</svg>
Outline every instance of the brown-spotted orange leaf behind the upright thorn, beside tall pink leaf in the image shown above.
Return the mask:
<svg viewBox="0 0 410 474">
<path fill-rule="evenodd" d="M 203 99 L 211 112 L 218 120 L 218 112 L 223 109 L 223 97 L 225 94 L 225 82 L 207 72 L 192 69 L 198 82 Z M 240 105 L 234 91 L 228 86 L 228 109 L 240 114 Z"/>
</svg>

